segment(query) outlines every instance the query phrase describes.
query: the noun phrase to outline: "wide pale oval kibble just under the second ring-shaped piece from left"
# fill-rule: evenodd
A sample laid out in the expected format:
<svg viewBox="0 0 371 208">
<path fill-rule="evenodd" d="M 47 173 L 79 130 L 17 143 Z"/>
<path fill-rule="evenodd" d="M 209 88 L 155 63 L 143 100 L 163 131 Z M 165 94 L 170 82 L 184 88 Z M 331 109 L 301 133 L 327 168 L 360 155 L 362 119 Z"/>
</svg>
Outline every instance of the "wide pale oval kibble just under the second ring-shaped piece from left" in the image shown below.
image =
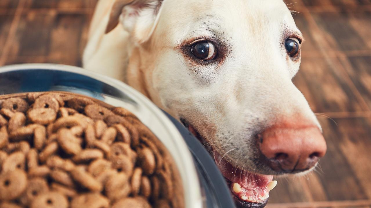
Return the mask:
<svg viewBox="0 0 371 208">
<path fill-rule="evenodd" d="M 57 113 L 52 108 L 34 108 L 27 112 L 27 116 L 33 123 L 48 125 L 57 118 Z"/>
</svg>

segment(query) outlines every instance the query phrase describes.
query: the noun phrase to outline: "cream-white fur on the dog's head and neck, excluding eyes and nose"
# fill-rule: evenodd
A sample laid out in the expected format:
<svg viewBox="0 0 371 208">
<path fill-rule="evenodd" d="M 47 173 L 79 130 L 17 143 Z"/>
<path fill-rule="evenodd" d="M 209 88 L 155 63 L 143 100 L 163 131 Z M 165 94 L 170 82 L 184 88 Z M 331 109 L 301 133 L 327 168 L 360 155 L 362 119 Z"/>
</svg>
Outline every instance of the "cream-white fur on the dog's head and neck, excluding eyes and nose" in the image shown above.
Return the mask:
<svg viewBox="0 0 371 208">
<path fill-rule="evenodd" d="M 210 144 L 239 167 L 269 174 L 256 163 L 254 135 L 280 120 L 300 117 L 317 125 L 315 115 L 292 78 L 300 60 L 288 58 L 285 25 L 300 34 L 280 0 L 164 0 L 128 17 L 104 35 L 112 2 L 83 57 L 86 69 L 121 79 L 176 118 L 188 120 Z M 104 13 L 104 14 L 102 14 Z M 122 27 L 124 25 L 124 27 Z M 209 30 L 204 30 L 207 27 Z M 194 37 L 218 34 L 230 47 L 223 64 L 194 65 L 177 46 Z M 207 128 L 206 128 L 207 127 Z"/>
</svg>

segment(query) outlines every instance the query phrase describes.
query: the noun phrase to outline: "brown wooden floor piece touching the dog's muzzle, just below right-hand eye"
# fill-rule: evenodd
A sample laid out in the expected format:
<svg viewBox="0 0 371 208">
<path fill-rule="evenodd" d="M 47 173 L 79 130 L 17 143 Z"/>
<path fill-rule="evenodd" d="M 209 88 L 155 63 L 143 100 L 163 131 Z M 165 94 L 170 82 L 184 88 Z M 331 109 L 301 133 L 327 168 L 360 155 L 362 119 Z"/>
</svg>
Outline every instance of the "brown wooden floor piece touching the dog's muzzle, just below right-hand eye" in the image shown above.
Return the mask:
<svg viewBox="0 0 371 208">
<path fill-rule="evenodd" d="M 348 77 L 338 58 L 303 57 L 294 78 L 312 110 L 318 112 L 367 111 L 349 87 Z"/>
</svg>

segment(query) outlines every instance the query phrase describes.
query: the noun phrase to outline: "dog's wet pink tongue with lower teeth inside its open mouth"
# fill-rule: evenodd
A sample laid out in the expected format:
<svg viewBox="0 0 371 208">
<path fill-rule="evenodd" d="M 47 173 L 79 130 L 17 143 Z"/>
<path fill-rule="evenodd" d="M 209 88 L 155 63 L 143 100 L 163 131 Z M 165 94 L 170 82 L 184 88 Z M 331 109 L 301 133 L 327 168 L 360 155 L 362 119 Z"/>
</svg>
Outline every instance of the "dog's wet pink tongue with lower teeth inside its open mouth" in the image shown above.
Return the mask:
<svg viewBox="0 0 371 208">
<path fill-rule="evenodd" d="M 214 159 L 224 177 L 232 182 L 230 184 L 232 193 L 242 201 L 264 202 L 269 197 L 269 191 L 277 184 L 277 181 L 272 181 L 272 175 L 253 174 L 236 168 L 216 151 Z"/>
</svg>

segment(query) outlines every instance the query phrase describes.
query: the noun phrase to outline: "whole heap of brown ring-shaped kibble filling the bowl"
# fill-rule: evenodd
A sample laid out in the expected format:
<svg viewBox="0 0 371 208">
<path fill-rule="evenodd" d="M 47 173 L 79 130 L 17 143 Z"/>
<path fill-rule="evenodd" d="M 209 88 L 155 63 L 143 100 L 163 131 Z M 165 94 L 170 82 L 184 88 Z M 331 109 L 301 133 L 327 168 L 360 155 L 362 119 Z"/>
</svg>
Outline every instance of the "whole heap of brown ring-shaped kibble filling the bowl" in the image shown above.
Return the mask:
<svg viewBox="0 0 371 208">
<path fill-rule="evenodd" d="M 182 208 L 168 151 L 131 112 L 85 96 L 0 96 L 0 208 Z"/>
</svg>

